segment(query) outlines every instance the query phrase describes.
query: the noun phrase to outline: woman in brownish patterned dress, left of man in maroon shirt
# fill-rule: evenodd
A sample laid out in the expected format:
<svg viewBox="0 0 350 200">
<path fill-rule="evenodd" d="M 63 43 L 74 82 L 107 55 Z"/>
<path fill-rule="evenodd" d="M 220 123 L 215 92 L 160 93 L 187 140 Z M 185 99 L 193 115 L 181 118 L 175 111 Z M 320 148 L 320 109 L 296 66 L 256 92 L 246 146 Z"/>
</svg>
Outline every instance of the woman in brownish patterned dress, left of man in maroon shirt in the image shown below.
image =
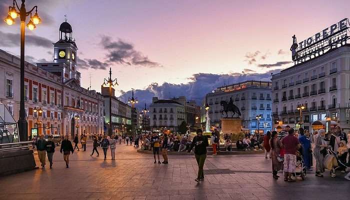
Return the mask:
<svg viewBox="0 0 350 200">
<path fill-rule="evenodd" d="M 277 171 L 283 169 L 283 162 L 279 162 L 277 159 L 277 155 L 280 151 L 280 141 L 277 139 L 277 131 L 273 130 L 271 139 L 268 141 L 268 144 L 271 148 L 270 155 L 272 161 L 272 177 L 274 179 L 278 179 Z"/>
</svg>

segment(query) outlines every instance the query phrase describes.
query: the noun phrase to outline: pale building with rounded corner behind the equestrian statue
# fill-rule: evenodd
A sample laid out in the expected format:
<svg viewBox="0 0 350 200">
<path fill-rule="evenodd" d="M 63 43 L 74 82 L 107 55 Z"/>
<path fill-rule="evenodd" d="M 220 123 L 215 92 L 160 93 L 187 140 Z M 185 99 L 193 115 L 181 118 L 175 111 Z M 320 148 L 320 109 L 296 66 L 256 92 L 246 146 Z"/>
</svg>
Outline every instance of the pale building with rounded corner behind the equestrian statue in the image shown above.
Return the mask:
<svg viewBox="0 0 350 200">
<path fill-rule="evenodd" d="M 229 102 L 233 100 L 241 112 L 242 132 L 264 132 L 271 130 L 271 82 L 247 80 L 213 89 L 206 94 L 200 105 L 200 121 L 203 129 L 206 126 L 206 103 L 209 105 L 208 116 L 210 119 L 210 128 L 221 128 L 220 119 L 226 117 L 220 101 Z M 228 112 L 231 117 L 232 112 Z M 257 120 L 256 116 L 261 117 Z M 233 117 L 237 117 L 235 114 Z M 259 122 L 259 123 L 257 123 Z M 224 132 L 226 133 L 226 132 Z M 229 132 L 228 132 L 229 133 Z"/>
</svg>

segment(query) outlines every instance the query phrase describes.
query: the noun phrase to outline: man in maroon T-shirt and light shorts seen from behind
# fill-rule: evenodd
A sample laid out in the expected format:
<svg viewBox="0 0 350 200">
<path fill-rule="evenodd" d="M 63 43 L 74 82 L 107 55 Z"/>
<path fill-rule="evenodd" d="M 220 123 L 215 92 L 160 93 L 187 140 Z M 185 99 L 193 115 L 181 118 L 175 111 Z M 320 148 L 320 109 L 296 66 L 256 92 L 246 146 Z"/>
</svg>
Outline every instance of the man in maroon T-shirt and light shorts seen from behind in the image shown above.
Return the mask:
<svg viewBox="0 0 350 200">
<path fill-rule="evenodd" d="M 291 174 L 295 172 L 296 155 L 295 152 L 300 148 L 299 139 L 294 136 L 294 128 L 288 129 L 288 135 L 282 139 L 281 148 L 284 148 L 284 181 L 294 182 Z"/>
</svg>

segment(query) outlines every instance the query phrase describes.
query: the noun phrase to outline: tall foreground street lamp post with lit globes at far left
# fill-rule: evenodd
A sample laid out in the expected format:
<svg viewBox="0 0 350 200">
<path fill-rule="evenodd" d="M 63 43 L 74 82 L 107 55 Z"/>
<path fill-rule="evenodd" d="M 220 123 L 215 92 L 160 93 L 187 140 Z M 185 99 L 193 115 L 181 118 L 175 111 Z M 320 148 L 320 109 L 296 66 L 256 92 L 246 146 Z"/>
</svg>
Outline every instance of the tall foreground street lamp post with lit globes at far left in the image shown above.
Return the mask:
<svg viewBox="0 0 350 200">
<path fill-rule="evenodd" d="M 34 29 L 36 26 L 35 24 L 38 24 L 41 22 L 41 19 L 37 15 L 37 6 L 35 5 L 33 8 L 31 8 L 30 11 L 25 10 L 24 1 L 22 0 L 22 4 L 20 5 L 20 8 L 18 7 L 17 1 L 13 0 L 13 6 L 9 6 L 8 9 L 8 15 L 4 19 L 4 21 L 11 25 L 14 23 L 14 18 L 20 17 L 20 101 L 19 101 L 19 119 L 18 119 L 18 131 L 19 131 L 19 140 L 20 141 L 27 141 L 28 140 L 28 123 L 25 120 L 25 110 L 24 110 L 24 23 L 26 16 L 30 15 L 30 20 L 26 24 L 26 26 L 29 28 L 29 30 Z M 14 6 L 15 5 L 15 6 Z M 17 12 L 16 10 L 19 10 Z M 34 16 L 31 16 L 31 12 L 35 8 L 35 14 Z"/>
</svg>

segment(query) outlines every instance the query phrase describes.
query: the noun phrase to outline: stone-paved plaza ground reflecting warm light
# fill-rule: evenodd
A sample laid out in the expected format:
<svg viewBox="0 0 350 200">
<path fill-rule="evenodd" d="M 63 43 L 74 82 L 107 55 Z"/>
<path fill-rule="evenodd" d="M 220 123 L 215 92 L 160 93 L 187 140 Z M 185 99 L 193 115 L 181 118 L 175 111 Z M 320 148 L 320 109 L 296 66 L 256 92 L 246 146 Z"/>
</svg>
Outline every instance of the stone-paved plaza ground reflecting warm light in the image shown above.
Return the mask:
<svg viewBox="0 0 350 200">
<path fill-rule="evenodd" d="M 331 178 L 329 170 L 323 178 L 316 177 L 313 170 L 305 180 L 296 177 L 295 182 L 285 182 L 281 173 L 281 178 L 272 179 L 271 160 L 263 153 L 208 155 L 204 169 L 212 174 L 198 184 L 193 155 L 169 155 L 168 164 L 154 164 L 153 155 L 137 153 L 133 146 L 121 143 L 116 146 L 115 160 L 110 160 L 109 149 L 103 160 L 100 147 L 99 157 L 89 155 L 92 142 L 88 141 L 86 151 L 75 150 L 70 155 L 66 168 L 59 147 L 52 169 L 46 161 L 44 169 L 0 177 L 0 199 L 321 200 L 348 199 L 350 194 L 350 181 L 344 174 L 337 172 Z"/>
</svg>

